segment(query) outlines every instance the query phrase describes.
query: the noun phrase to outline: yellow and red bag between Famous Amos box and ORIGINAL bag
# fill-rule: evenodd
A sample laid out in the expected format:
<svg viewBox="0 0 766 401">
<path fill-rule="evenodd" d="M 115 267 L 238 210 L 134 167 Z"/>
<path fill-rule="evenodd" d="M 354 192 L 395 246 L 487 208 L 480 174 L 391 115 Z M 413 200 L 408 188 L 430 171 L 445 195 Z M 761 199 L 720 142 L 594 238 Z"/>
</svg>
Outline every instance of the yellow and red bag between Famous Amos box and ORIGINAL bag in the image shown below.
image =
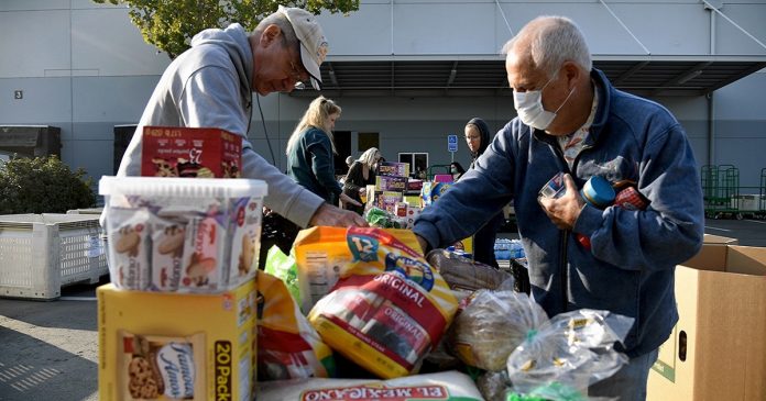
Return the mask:
<svg viewBox="0 0 766 401">
<path fill-rule="evenodd" d="M 263 298 L 258 322 L 259 379 L 332 377 L 332 350 L 300 313 L 284 282 L 261 271 L 258 291 Z"/>
</svg>

